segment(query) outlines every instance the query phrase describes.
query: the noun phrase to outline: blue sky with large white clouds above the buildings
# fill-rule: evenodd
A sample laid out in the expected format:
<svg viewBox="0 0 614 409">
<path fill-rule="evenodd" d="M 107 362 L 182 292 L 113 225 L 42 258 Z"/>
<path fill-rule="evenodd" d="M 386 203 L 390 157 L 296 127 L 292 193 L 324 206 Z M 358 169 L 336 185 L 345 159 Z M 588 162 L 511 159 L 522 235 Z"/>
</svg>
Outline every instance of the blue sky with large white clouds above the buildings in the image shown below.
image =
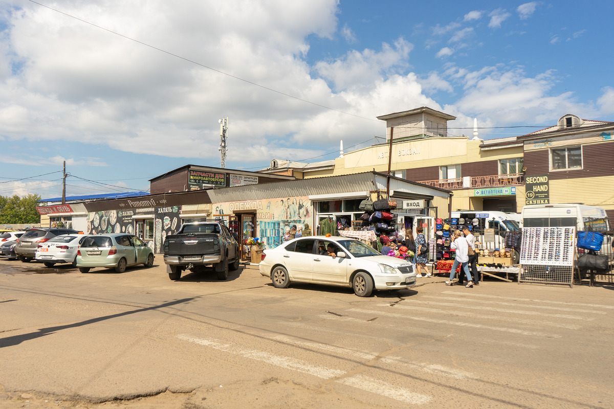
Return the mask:
<svg viewBox="0 0 614 409">
<path fill-rule="evenodd" d="M 0 195 L 148 191 L 383 142 L 427 106 L 449 136 L 614 121 L 612 1 L 0 0 Z M 519 128 L 516 128 L 519 127 Z"/>
</svg>

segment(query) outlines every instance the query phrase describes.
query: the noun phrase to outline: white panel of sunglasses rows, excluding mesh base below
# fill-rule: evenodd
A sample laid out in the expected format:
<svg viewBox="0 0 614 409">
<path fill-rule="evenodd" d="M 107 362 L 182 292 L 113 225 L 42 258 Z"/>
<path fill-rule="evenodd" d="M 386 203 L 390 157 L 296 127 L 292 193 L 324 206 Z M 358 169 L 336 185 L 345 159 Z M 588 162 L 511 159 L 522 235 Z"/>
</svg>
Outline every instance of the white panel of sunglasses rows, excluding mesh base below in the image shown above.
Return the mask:
<svg viewBox="0 0 614 409">
<path fill-rule="evenodd" d="M 575 227 L 525 227 L 520 264 L 573 266 Z"/>
</svg>

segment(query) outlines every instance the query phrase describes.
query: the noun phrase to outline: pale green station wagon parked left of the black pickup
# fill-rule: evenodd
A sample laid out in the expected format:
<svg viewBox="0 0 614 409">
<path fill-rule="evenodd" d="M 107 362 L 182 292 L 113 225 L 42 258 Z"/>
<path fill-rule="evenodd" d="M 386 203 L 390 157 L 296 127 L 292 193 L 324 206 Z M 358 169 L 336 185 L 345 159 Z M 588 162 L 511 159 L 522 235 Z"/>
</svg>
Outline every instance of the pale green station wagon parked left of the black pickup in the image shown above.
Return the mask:
<svg viewBox="0 0 614 409">
<path fill-rule="evenodd" d="M 153 250 L 133 234 L 99 234 L 85 237 L 77 250 L 77 267 L 87 273 L 105 267 L 123 273 L 136 264 L 153 266 Z"/>
</svg>

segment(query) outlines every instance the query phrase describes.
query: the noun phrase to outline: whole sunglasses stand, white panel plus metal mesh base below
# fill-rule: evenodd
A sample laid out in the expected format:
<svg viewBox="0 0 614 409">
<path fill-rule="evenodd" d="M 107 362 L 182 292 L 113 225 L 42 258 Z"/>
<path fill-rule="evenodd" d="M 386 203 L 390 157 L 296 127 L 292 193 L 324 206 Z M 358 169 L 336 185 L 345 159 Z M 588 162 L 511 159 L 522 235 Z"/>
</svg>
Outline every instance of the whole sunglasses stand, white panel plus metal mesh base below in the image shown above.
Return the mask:
<svg viewBox="0 0 614 409">
<path fill-rule="evenodd" d="M 524 227 L 518 283 L 573 287 L 575 227 Z"/>
</svg>

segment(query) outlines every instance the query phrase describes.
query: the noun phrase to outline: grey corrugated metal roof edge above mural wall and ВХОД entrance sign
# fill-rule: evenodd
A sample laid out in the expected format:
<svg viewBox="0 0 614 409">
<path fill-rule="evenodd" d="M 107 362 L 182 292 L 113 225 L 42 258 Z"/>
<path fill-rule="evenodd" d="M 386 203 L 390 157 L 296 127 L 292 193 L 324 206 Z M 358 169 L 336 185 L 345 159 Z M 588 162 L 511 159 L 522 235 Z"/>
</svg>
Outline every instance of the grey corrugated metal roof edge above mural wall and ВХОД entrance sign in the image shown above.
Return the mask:
<svg viewBox="0 0 614 409">
<path fill-rule="evenodd" d="M 255 201 L 276 197 L 310 196 L 314 194 L 338 194 L 342 192 L 386 190 L 386 174 L 363 172 L 340 176 L 299 179 L 288 182 L 266 183 L 265 185 L 235 186 L 208 191 L 211 202 Z M 448 197 L 449 191 L 429 185 L 411 182 L 391 176 L 391 189 L 430 196 Z"/>
</svg>

